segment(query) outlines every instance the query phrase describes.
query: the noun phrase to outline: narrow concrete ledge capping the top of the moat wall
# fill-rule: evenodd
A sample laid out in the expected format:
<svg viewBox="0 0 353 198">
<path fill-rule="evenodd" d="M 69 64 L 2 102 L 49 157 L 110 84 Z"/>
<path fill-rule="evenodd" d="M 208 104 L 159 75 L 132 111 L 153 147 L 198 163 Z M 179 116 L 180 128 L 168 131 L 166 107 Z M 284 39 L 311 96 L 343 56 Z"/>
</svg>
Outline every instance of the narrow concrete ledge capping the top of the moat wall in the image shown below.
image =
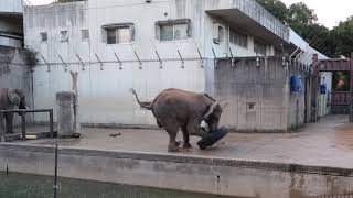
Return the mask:
<svg viewBox="0 0 353 198">
<path fill-rule="evenodd" d="M 55 147 L 50 145 L 24 145 L 24 144 L 19 145 L 14 143 L 2 143 L 0 144 L 0 150 L 43 152 L 43 153 L 55 152 Z M 353 177 L 353 168 L 308 166 L 308 165 L 300 165 L 300 164 L 284 164 L 284 163 L 272 163 L 272 162 L 265 162 L 265 161 L 254 162 L 254 161 L 246 161 L 246 160 L 224 158 L 224 157 L 205 157 L 205 156 L 181 155 L 181 154 L 157 154 L 157 153 L 128 152 L 128 151 L 101 151 L 101 150 L 73 148 L 73 147 L 61 147 L 58 153 L 66 154 L 66 155 L 131 158 L 131 160 L 142 160 L 142 161 L 244 167 L 244 168 L 255 168 L 255 169 Z"/>
</svg>

